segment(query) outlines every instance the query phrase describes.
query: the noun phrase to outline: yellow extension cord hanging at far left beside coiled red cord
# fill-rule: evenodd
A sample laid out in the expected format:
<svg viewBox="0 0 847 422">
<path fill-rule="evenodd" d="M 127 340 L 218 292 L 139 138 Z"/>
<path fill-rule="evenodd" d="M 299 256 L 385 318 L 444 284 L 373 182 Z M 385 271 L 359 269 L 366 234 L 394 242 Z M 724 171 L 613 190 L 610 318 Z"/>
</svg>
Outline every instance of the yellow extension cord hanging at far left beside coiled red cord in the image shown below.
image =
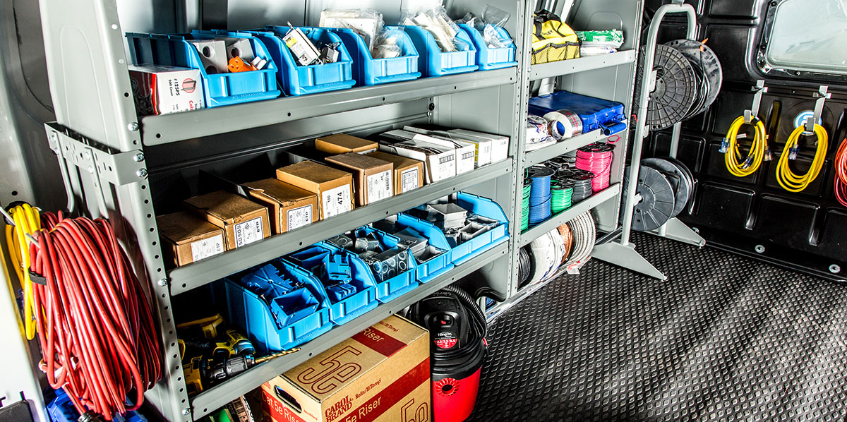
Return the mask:
<svg viewBox="0 0 847 422">
<path fill-rule="evenodd" d="M 12 216 L 14 226 L 6 225 L 6 244 L 9 247 L 12 266 L 24 288 L 24 330 L 26 338 L 32 340 L 36 336 L 36 320 L 33 314 L 35 303 L 30 280 L 30 242 L 26 235 L 42 229 L 41 216 L 38 210 L 30 207 L 28 203 L 9 209 L 8 214 Z"/>
</svg>

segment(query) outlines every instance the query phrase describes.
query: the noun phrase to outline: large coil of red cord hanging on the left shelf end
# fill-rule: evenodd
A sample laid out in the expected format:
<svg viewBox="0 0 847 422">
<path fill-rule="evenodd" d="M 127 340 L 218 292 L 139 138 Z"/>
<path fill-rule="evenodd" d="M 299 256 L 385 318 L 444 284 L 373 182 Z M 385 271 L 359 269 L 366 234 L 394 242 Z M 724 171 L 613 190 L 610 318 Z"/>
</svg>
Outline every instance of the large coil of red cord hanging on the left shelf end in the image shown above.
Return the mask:
<svg viewBox="0 0 847 422">
<path fill-rule="evenodd" d="M 80 414 L 134 410 L 162 377 L 158 330 L 129 259 L 106 219 L 42 214 L 30 245 L 41 369 Z M 132 395 L 134 397 L 128 397 Z M 131 403 L 125 404 L 128 400 Z"/>
</svg>

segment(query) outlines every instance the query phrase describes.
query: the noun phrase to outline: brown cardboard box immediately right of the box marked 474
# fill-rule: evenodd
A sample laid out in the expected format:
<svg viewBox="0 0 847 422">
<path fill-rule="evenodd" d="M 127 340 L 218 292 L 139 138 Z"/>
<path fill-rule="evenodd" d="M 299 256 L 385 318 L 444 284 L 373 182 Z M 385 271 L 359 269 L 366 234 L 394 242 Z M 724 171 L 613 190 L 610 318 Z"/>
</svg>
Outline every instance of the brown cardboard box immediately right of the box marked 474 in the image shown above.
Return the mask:
<svg viewBox="0 0 847 422">
<path fill-rule="evenodd" d="M 368 155 L 346 153 L 327 157 L 326 162 L 353 174 L 357 207 L 394 195 L 394 164 L 388 161 Z"/>
</svg>

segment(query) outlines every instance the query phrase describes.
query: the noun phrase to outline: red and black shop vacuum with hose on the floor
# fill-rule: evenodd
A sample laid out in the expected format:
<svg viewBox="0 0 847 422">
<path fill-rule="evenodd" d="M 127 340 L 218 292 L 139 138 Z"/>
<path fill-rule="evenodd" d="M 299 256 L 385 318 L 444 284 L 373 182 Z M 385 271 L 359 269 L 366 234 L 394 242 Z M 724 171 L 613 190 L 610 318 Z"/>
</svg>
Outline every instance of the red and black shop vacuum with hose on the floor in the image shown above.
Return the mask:
<svg viewBox="0 0 847 422">
<path fill-rule="evenodd" d="M 473 297 L 446 286 L 412 305 L 409 319 L 429 330 L 434 422 L 462 422 L 476 404 L 488 343 L 485 315 Z"/>
</svg>

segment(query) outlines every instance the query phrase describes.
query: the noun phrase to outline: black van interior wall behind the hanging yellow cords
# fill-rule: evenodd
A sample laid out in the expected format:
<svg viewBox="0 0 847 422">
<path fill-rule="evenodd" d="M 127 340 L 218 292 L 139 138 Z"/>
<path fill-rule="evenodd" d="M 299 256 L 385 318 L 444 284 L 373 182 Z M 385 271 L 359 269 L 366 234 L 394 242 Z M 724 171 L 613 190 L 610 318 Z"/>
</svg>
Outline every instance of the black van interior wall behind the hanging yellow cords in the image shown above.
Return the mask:
<svg viewBox="0 0 847 422">
<path fill-rule="evenodd" d="M 647 0 L 645 22 L 664 2 Z M 833 157 L 847 133 L 847 97 L 844 81 L 811 80 L 764 75 L 756 64 L 761 48 L 766 0 L 687 0 L 699 16 L 698 39 L 717 53 L 723 68 L 723 87 L 717 102 L 705 114 L 683 125 L 680 158 L 695 173 L 695 201 L 680 218 L 707 242 L 791 266 L 831 280 L 844 281 L 847 257 L 847 209 L 833 191 Z M 667 18 L 660 42 L 683 38 L 684 21 Z M 720 147 L 729 125 L 753 101 L 751 87 L 765 80 L 770 91 L 762 97 L 759 116 L 769 132 L 774 161 L 763 163 L 755 175 L 739 179 L 724 165 Z M 811 186 L 800 193 L 783 190 L 777 182 L 777 161 L 794 130 L 794 116 L 815 107 L 813 93 L 829 86 L 833 98 L 823 111 L 829 133 L 827 161 Z M 772 126 L 773 123 L 773 126 Z M 650 136 L 644 157 L 667 156 L 671 131 Z M 805 173 L 815 153 L 815 137 L 802 136 L 795 173 Z M 762 252 L 763 247 L 763 252 Z"/>
</svg>

